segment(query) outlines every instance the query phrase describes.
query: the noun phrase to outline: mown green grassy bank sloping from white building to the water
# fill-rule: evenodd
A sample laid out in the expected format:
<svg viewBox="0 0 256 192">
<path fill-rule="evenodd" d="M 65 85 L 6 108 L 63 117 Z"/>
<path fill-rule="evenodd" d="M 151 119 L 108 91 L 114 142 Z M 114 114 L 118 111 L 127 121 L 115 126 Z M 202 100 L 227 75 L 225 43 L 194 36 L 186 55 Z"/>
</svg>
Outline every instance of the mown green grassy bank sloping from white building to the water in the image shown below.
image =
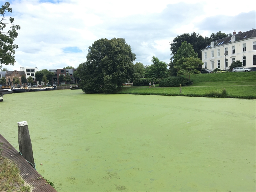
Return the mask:
<svg viewBox="0 0 256 192">
<path fill-rule="evenodd" d="M 256 99 L 256 72 L 196 74 L 182 87 L 122 87 L 119 94 Z M 226 92 L 224 91 L 226 90 Z"/>
</svg>

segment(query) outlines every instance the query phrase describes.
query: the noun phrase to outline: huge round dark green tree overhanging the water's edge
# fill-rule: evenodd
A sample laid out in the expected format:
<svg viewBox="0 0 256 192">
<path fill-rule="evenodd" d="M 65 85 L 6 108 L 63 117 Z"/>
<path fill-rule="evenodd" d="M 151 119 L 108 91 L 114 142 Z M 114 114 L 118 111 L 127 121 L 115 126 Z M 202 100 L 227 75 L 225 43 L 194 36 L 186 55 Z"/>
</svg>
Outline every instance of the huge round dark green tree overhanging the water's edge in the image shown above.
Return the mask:
<svg viewBox="0 0 256 192">
<path fill-rule="evenodd" d="M 133 78 L 136 57 L 123 38 L 95 41 L 86 59 L 77 68 L 81 89 L 86 93 L 113 93 L 116 85 L 120 89 L 123 82 Z"/>
</svg>

